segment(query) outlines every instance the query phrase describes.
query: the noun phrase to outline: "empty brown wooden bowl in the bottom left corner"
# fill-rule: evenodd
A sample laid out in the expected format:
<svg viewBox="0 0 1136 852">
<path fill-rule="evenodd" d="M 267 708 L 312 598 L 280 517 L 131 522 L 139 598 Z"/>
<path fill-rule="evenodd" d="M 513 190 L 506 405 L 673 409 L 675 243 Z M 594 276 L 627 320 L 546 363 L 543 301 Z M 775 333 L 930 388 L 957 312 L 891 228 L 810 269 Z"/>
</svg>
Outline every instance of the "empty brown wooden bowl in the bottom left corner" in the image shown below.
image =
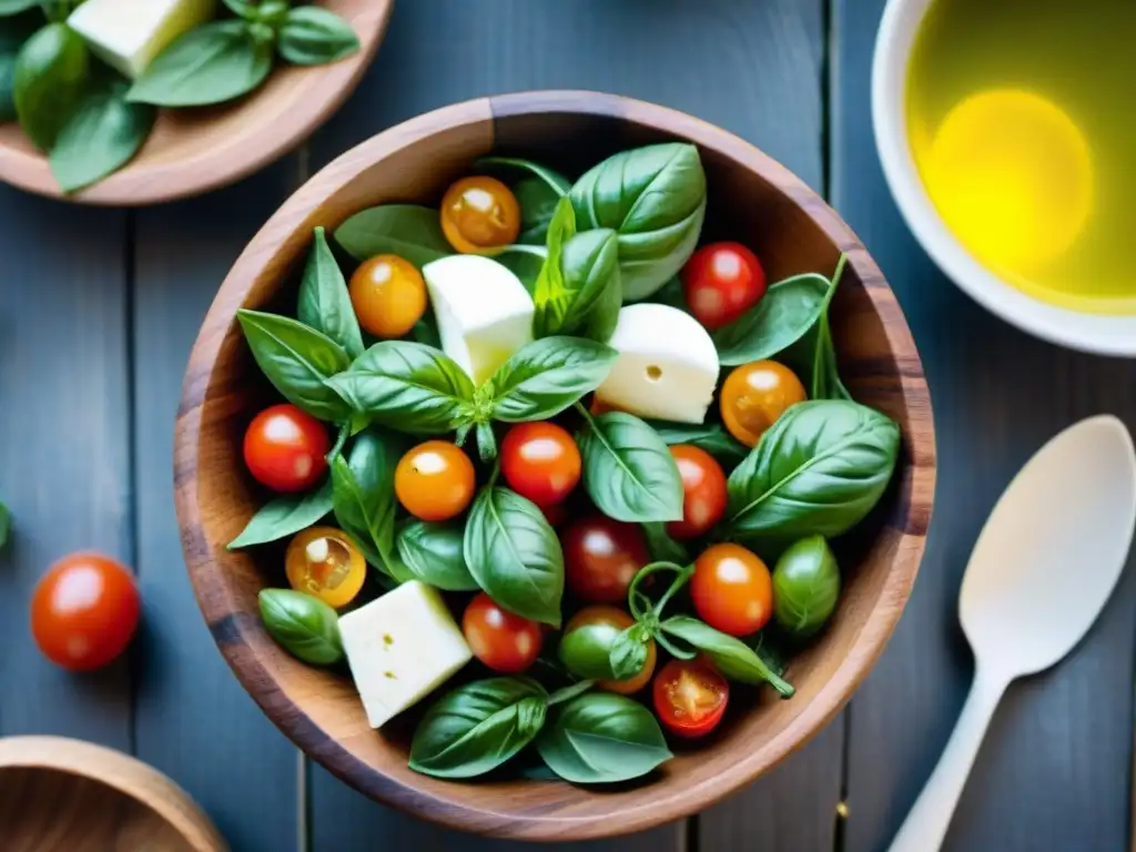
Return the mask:
<svg viewBox="0 0 1136 852">
<path fill-rule="evenodd" d="M 101 745 L 57 736 L 0 740 L 5 852 L 225 852 L 185 791 Z"/>
</svg>

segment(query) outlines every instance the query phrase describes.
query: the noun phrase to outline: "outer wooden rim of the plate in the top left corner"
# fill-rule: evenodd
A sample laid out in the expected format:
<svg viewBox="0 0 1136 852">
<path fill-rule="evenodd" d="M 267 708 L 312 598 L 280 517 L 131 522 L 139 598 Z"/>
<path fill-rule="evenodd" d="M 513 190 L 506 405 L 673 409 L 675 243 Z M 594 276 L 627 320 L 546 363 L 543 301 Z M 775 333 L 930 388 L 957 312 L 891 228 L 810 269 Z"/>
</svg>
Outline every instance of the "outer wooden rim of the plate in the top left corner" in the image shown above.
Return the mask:
<svg viewBox="0 0 1136 852">
<path fill-rule="evenodd" d="M 354 91 L 378 51 L 394 8 L 394 0 L 367 1 L 374 3 L 379 14 L 373 30 L 359 33 L 358 53 L 331 65 L 294 69 L 319 77 L 307 97 L 296 101 L 294 108 L 289 110 L 289 115 L 298 120 L 283 125 L 262 124 L 249 133 L 233 134 L 224 144 L 201 149 L 177 160 L 135 160 L 99 183 L 69 195 L 59 189 L 44 154 L 0 142 L 0 182 L 37 195 L 77 204 L 137 207 L 200 195 L 248 177 L 301 144 Z M 264 92 L 250 95 L 261 97 Z M 240 109 L 243 102 L 236 101 L 232 106 Z M 225 105 L 219 107 L 224 108 Z M 186 132 L 192 133 L 193 127 Z"/>
</svg>

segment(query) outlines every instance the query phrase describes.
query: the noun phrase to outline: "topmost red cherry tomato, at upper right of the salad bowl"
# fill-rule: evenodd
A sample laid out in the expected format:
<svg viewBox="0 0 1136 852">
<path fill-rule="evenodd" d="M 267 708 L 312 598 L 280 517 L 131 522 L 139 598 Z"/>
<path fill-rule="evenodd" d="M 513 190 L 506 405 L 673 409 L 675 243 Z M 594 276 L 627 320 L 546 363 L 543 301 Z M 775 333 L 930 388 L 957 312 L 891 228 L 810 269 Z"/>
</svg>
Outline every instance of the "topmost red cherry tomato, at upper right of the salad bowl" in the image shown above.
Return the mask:
<svg viewBox="0 0 1136 852">
<path fill-rule="evenodd" d="M 711 331 L 733 323 L 766 294 L 766 270 L 741 243 L 703 245 L 679 277 L 691 314 Z"/>
</svg>

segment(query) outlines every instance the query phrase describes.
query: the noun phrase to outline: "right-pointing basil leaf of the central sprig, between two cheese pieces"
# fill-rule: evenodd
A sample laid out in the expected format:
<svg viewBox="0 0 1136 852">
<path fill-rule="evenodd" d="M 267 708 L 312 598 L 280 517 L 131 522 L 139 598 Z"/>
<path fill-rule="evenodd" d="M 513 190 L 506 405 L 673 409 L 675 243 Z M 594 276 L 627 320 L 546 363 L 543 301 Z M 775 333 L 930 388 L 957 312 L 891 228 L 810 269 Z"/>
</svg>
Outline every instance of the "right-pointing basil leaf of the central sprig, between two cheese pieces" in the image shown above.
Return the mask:
<svg viewBox="0 0 1136 852">
<path fill-rule="evenodd" d="M 546 420 L 599 387 L 619 356 L 582 337 L 544 337 L 515 352 L 490 379 L 493 416 L 504 423 Z"/>
</svg>

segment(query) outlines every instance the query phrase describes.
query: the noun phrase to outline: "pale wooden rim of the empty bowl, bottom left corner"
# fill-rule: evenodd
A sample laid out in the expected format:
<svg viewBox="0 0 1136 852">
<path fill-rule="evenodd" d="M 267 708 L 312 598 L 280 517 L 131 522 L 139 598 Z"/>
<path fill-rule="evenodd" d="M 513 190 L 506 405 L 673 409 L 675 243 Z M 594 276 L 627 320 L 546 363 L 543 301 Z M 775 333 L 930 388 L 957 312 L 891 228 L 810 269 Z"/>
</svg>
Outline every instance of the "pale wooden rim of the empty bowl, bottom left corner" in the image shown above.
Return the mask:
<svg viewBox="0 0 1136 852">
<path fill-rule="evenodd" d="M 97 782 L 134 800 L 197 852 L 225 852 L 224 838 L 192 796 L 137 758 L 62 736 L 0 737 L 0 770 L 48 769 Z"/>
</svg>

